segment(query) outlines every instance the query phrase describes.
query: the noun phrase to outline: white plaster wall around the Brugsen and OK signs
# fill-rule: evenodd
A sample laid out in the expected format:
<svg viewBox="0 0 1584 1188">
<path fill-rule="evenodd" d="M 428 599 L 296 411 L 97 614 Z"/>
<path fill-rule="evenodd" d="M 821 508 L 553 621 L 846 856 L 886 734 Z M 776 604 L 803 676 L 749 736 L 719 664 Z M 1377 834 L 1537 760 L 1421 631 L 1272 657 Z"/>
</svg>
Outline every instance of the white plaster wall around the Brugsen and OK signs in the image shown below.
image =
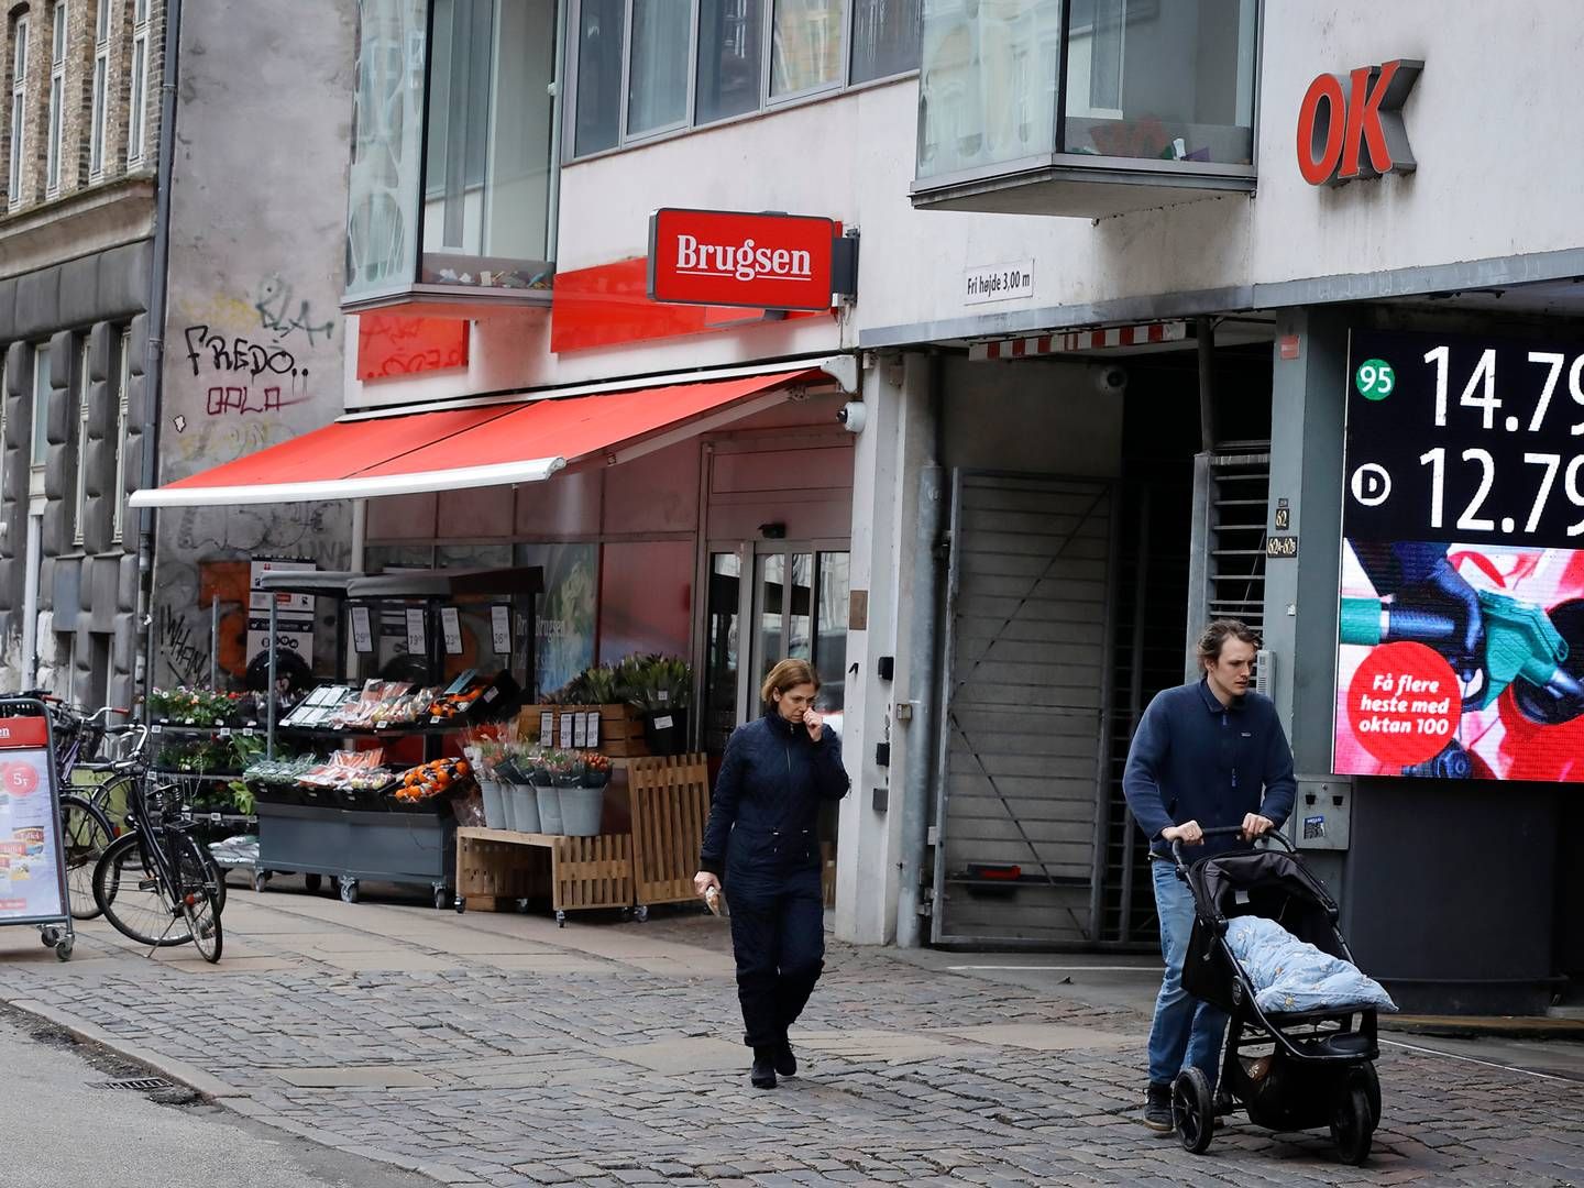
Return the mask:
<svg viewBox="0 0 1584 1188">
<path fill-rule="evenodd" d="M 1506 257 L 1581 244 L 1584 22 L 1565 0 L 1267 3 L 1259 192 L 1101 220 L 916 211 L 912 79 L 567 166 L 558 263 L 646 250 L 656 206 L 828 214 L 862 230 L 859 301 L 840 323 L 794 322 L 621 348 L 548 353 L 543 312 L 480 322 L 467 372 L 371 394 L 444 398 L 716 366 L 852 345 L 857 333 L 976 314 Z M 1392 57 L 1426 70 L 1405 120 L 1411 176 L 1307 185 L 1296 120 L 1318 73 Z M 971 266 L 1034 261 L 1031 298 L 961 301 Z"/>
</svg>

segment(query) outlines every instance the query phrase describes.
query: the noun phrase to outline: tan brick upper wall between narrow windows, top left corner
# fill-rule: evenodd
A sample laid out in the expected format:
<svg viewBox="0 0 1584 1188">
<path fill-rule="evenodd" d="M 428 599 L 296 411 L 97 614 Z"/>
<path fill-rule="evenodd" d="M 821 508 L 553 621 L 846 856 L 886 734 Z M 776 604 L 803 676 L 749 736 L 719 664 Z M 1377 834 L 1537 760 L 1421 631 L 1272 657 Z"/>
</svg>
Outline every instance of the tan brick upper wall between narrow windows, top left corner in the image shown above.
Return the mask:
<svg viewBox="0 0 1584 1188">
<path fill-rule="evenodd" d="M 90 141 L 93 130 L 93 67 L 97 55 L 95 17 L 98 0 L 67 0 L 67 62 L 60 136 L 60 185 L 46 195 L 49 160 L 49 86 L 52 48 L 52 0 L 30 0 L 13 8 L 5 17 L 5 44 L 0 49 L 0 188 L 6 204 L 0 206 L 0 222 L 22 211 L 35 211 L 41 203 L 70 201 L 73 195 L 114 182 L 130 174 L 152 174 L 160 128 L 160 78 L 165 65 L 165 3 L 149 0 L 146 29 L 146 82 L 143 87 L 144 136 L 143 158 L 127 165 L 127 135 L 131 124 L 133 48 L 136 43 L 136 0 L 109 0 L 108 78 L 105 103 L 105 157 L 100 177 L 90 177 Z M 25 139 L 19 177 L 10 176 L 11 84 L 16 59 L 16 27 L 29 24 L 25 81 Z M 21 206 L 10 206 L 21 185 Z"/>
</svg>

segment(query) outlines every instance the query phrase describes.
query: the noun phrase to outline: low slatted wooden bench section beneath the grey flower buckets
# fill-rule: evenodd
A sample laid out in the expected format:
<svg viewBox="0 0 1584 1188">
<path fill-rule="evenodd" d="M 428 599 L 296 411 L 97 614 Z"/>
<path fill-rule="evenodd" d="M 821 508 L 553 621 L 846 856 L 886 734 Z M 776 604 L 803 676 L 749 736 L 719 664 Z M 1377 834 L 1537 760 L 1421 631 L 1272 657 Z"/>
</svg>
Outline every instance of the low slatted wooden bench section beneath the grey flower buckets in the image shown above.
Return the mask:
<svg viewBox="0 0 1584 1188">
<path fill-rule="evenodd" d="M 569 911 L 630 908 L 632 838 L 456 830 L 458 911 L 512 911 L 546 892 L 558 923 Z"/>
</svg>

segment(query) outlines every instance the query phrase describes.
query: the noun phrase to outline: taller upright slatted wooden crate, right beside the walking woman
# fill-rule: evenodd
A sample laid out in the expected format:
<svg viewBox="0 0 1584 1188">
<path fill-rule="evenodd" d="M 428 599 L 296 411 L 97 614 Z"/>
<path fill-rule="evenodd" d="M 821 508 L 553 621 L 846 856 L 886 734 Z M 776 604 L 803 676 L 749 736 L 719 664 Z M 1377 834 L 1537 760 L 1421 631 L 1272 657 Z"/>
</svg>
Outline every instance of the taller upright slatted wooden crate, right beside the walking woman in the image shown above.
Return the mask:
<svg viewBox="0 0 1584 1188">
<path fill-rule="evenodd" d="M 627 763 L 632 865 L 638 904 L 687 903 L 710 817 L 705 756 L 657 756 Z"/>
</svg>

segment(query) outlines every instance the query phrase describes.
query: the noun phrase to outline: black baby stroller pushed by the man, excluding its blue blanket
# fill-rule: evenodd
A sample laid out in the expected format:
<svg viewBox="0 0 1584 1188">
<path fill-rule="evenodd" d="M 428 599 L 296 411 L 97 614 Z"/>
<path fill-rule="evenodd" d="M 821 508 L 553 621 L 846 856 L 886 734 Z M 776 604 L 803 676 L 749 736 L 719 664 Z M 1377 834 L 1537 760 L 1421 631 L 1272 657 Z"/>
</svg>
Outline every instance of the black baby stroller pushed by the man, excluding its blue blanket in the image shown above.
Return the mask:
<svg viewBox="0 0 1584 1188">
<path fill-rule="evenodd" d="M 1239 832 L 1236 825 L 1204 830 L 1205 836 Z M 1228 920 L 1262 916 L 1353 963 L 1337 930 L 1335 901 L 1285 836 L 1275 830 L 1266 836 L 1278 838 L 1286 852 L 1220 854 L 1191 868 L 1183 863 L 1182 844 L 1172 843 L 1177 878 L 1186 881 L 1194 900 L 1183 988 L 1231 1015 L 1215 1098 L 1196 1068 L 1172 1082 L 1177 1137 L 1199 1155 L 1210 1145 L 1215 1120 L 1242 1107 L 1250 1121 L 1274 1131 L 1331 1126 L 1342 1161 L 1361 1164 L 1381 1115 L 1375 1007 L 1261 1011 L 1255 985 L 1226 941 Z"/>
</svg>

